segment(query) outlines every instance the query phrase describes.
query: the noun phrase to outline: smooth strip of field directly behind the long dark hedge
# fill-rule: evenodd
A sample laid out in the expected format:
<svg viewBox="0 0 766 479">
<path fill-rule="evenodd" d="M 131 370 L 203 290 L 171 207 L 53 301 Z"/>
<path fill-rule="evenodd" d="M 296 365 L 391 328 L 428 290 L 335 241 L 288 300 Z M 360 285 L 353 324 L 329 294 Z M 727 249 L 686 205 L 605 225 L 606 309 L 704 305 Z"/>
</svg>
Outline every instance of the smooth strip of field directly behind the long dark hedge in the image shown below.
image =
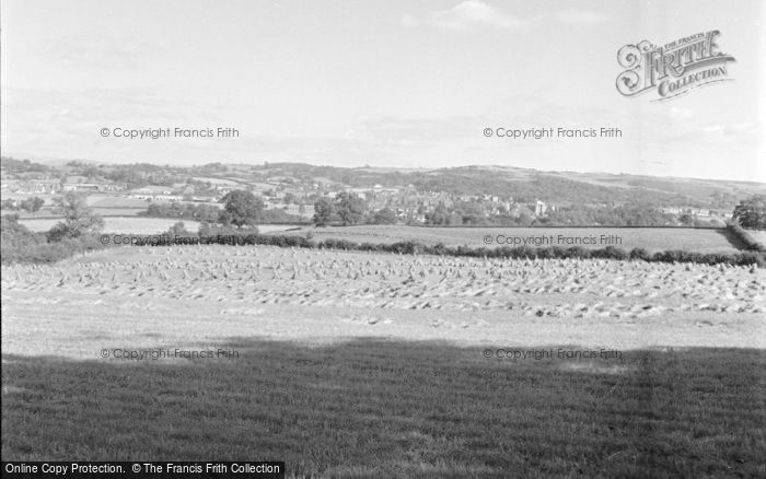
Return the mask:
<svg viewBox="0 0 766 479">
<path fill-rule="evenodd" d="M 355 243 L 396 243 L 417 241 L 448 246 L 616 246 L 650 252 L 684 249 L 697 253 L 733 253 L 736 247 L 726 230 L 677 227 L 422 227 L 422 226 L 304 226 L 290 234 L 311 232 L 315 241 L 337 238 Z"/>
</svg>

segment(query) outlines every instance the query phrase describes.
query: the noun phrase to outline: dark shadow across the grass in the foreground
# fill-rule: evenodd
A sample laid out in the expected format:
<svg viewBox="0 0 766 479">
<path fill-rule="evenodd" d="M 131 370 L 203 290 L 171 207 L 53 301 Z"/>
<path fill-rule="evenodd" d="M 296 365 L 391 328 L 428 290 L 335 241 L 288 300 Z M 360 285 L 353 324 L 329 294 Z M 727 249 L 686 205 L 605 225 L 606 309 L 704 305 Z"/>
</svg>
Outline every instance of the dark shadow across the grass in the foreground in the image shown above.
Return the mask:
<svg viewBox="0 0 766 479">
<path fill-rule="evenodd" d="M 512 361 L 437 341 L 227 347 L 239 358 L 3 355 L 3 459 L 286 460 L 307 477 L 766 475 L 762 350 Z"/>
</svg>

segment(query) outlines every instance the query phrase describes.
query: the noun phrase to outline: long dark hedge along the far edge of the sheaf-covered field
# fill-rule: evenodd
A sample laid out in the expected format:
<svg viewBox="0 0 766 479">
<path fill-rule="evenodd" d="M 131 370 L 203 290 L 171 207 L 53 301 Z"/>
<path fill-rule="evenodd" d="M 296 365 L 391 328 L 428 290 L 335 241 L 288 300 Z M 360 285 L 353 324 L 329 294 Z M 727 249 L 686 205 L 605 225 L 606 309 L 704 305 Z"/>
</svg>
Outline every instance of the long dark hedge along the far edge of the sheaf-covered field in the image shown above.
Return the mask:
<svg viewBox="0 0 766 479">
<path fill-rule="evenodd" d="M 200 242 L 201 244 L 221 245 L 267 245 L 294 248 L 316 248 L 316 249 L 344 249 L 357 252 L 394 253 L 403 255 L 439 255 L 439 256 L 462 256 L 474 258 L 513 258 L 513 259 L 619 259 L 619 260 L 643 260 L 651 262 L 697 262 L 705 265 L 758 265 L 766 266 L 766 254 L 763 252 L 741 252 L 741 253 L 694 253 L 686 250 L 665 250 L 649 253 L 643 248 L 634 248 L 629 252 L 607 246 L 600 249 L 583 248 L 579 246 L 562 247 L 510 247 L 500 246 L 495 248 L 472 247 L 472 246 L 445 246 L 444 244 L 427 245 L 419 242 L 399 243 L 355 243 L 347 240 L 324 240 L 314 242 L 310 237 L 298 235 L 265 235 L 265 234 L 239 234 L 218 235 L 199 238 L 195 236 L 185 237 L 185 241 L 172 244 L 189 244 Z M 163 242 L 138 242 L 137 245 L 159 246 L 167 243 Z"/>
</svg>

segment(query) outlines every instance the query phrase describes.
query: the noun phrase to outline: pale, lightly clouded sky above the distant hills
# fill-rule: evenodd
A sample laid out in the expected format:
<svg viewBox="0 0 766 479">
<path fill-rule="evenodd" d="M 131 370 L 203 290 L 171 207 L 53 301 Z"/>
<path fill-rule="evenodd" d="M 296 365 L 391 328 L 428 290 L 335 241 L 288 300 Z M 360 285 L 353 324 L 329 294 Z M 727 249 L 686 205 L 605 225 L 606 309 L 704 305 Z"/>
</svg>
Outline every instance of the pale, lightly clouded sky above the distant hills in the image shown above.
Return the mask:
<svg viewBox="0 0 766 479">
<path fill-rule="evenodd" d="M 762 0 L 3 0 L 0 17 L 3 155 L 766 182 Z M 617 92 L 624 45 L 712 30 L 732 81 Z M 239 137 L 115 136 L 219 127 Z M 483 135 L 549 127 L 623 136 Z"/>
</svg>

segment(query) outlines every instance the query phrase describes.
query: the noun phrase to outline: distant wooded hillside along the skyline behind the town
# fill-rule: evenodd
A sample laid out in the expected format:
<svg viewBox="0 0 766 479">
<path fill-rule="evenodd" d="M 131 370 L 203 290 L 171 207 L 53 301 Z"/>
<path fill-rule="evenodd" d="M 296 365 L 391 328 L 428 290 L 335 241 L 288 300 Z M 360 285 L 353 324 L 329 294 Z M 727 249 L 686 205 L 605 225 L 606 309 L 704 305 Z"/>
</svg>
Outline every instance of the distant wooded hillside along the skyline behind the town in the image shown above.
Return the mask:
<svg viewBox="0 0 766 479">
<path fill-rule="evenodd" d="M 672 178 L 605 173 L 542 172 L 512 166 L 461 166 L 438 170 L 384 167 L 337 167 L 305 163 L 223 164 L 171 166 L 147 163 L 98 164 L 1 159 L 3 180 L 88 178 L 124 183 L 128 187 L 185 184 L 190 179 L 213 185 L 257 189 L 294 188 L 396 188 L 449 195 L 496 195 L 517 202 L 542 200 L 558 206 L 597 205 L 641 207 L 686 207 L 731 210 L 741 199 L 766 195 L 766 184 L 755 182 Z M 95 180 L 95 179 L 90 179 Z"/>
</svg>

